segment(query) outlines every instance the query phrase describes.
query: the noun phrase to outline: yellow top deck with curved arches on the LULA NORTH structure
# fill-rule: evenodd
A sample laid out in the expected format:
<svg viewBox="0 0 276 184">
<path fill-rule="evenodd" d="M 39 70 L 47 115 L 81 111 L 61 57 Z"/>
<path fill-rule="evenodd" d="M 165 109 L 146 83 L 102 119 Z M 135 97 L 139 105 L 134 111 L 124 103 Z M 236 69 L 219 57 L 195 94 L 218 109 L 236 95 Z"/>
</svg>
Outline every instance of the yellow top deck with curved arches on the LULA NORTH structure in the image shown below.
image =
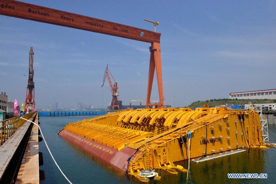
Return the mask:
<svg viewBox="0 0 276 184">
<path fill-rule="evenodd" d="M 233 113 L 233 111 L 223 111 L 220 109 L 205 109 L 203 111 L 193 111 L 190 109 L 183 109 L 184 111 L 178 109 L 120 111 L 111 115 L 85 119 L 79 123 L 67 125 L 65 129 L 114 149 L 120 150 L 125 145 L 136 149 L 144 147 L 147 144 L 163 144 L 175 138 L 175 134 L 179 131 L 183 131 L 184 129 L 178 130 L 178 128 L 183 126 L 187 126 L 185 127 L 185 131 L 187 128 L 190 128 L 187 130 L 193 130 L 191 129 L 192 127 L 205 125 Z M 104 121 L 105 118 L 117 115 L 116 122 Z M 155 132 L 149 132 L 149 127 L 144 126 L 145 122 L 148 122 L 148 125 L 162 122 L 163 126 L 155 129 Z M 164 137 L 159 139 L 160 136 Z"/>
</svg>

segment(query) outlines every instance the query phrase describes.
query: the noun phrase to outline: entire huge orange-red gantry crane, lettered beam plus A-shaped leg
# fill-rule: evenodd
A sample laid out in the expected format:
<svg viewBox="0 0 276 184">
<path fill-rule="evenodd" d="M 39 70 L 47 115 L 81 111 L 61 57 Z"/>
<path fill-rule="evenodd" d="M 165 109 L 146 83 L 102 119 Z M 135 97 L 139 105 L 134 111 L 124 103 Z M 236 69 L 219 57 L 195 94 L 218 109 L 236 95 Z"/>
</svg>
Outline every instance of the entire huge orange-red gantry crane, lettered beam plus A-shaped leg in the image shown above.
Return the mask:
<svg viewBox="0 0 276 184">
<path fill-rule="evenodd" d="M 1 15 L 151 43 L 146 107 L 152 106 L 150 96 L 155 69 L 160 100 L 158 106 L 163 107 L 160 33 L 19 1 L 0 0 L 0 4 Z"/>
</svg>

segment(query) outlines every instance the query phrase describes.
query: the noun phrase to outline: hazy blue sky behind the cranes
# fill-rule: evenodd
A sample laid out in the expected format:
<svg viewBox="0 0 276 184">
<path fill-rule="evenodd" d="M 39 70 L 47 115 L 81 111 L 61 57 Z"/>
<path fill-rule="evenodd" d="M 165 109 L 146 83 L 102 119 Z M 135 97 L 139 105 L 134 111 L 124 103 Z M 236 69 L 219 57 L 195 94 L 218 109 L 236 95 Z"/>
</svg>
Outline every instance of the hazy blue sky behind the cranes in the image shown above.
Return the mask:
<svg viewBox="0 0 276 184">
<path fill-rule="evenodd" d="M 275 1 L 23 1 L 142 29 L 159 21 L 164 103 L 275 89 Z M 0 91 L 25 101 L 30 46 L 36 108 L 107 106 L 106 64 L 123 104 L 145 100 L 150 44 L 0 15 Z M 158 100 L 154 79 L 151 100 Z M 137 104 L 139 104 L 137 102 Z"/>
</svg>

